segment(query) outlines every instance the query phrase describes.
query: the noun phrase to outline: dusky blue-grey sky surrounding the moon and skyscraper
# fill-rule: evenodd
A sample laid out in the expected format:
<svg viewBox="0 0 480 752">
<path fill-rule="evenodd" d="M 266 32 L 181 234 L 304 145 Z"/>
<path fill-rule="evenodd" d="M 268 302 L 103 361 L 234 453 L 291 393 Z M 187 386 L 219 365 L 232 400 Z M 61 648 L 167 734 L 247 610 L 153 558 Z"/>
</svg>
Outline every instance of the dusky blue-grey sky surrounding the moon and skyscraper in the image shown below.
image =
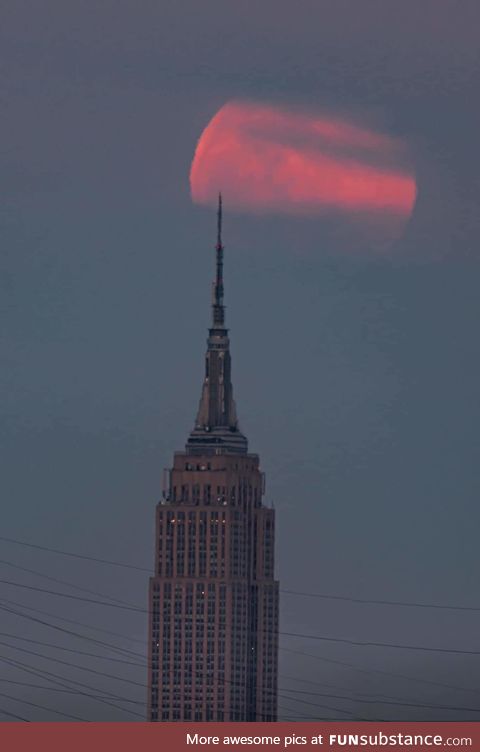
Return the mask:
<svg viewBox="0 0 480 752">
<path fill-rule="evenodd" d="M 2 536 L 143 568 L 0 540 L 2 711 L 144 717 L 144 570 L 209 324 L 215 215 L 189 175 L 231 101 L 360 118 L 417 183 L 383 252 L 225 196 L 234 390 L 281 589 L 480 608 L 479 28 L 476 0 L 2 4 Z M 479 720 L 479 624 L 282 593 L 280 717 Z"/>
</svg>

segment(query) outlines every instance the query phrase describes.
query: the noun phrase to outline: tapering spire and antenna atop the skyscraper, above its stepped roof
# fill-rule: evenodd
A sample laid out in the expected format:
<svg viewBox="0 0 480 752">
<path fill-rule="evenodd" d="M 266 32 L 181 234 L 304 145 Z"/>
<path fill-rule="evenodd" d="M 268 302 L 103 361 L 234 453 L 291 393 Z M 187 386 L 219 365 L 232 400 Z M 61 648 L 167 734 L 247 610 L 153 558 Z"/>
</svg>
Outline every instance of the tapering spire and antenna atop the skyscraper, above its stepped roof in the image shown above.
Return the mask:
<svg viewBox="0 0 480 752">
<path fill-rule="evenodd" d="M 228 329 L 223 304 L 222 195 L 218 195 L 216 267 L 212 294 L 212 325 L 207 339 L 205 377 L 195 427 L 187 441 L 193 453 L 247 451 L 233 399 Z"/>
</svg>

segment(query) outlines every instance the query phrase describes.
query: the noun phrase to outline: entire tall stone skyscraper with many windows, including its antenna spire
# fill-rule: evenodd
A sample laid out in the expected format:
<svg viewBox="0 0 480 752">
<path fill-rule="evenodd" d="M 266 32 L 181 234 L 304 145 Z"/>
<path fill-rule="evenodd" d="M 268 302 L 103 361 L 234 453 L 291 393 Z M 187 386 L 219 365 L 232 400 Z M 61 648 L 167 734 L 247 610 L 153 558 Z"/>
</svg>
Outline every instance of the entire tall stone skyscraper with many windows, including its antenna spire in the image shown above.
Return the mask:
<svg viewBox="0 0 480 752">
<path fill-rule="evenodd" d="M 274 510 L 240 431 L 223 303 L 219 198 L 212 324 L 195 426 L 165 471 L 149 593 L 151 721 L 277 719 Z"/>
</svg>

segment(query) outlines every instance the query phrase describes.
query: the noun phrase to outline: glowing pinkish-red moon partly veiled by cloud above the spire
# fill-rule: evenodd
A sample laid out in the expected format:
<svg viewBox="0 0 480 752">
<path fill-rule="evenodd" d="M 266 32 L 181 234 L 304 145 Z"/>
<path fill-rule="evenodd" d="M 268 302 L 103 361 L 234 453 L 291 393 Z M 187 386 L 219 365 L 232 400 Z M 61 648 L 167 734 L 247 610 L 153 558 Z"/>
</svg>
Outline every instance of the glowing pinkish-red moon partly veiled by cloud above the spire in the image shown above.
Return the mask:
<svg viewBox="0 0 480 752">
<path fill-rule="evenodd" d="M 347 119 L 232 101 L 200 136 L 195 203 L 252 213 L 335 216 L 398 236 L 416 198 L 406 145 Z"/>
</svg>

